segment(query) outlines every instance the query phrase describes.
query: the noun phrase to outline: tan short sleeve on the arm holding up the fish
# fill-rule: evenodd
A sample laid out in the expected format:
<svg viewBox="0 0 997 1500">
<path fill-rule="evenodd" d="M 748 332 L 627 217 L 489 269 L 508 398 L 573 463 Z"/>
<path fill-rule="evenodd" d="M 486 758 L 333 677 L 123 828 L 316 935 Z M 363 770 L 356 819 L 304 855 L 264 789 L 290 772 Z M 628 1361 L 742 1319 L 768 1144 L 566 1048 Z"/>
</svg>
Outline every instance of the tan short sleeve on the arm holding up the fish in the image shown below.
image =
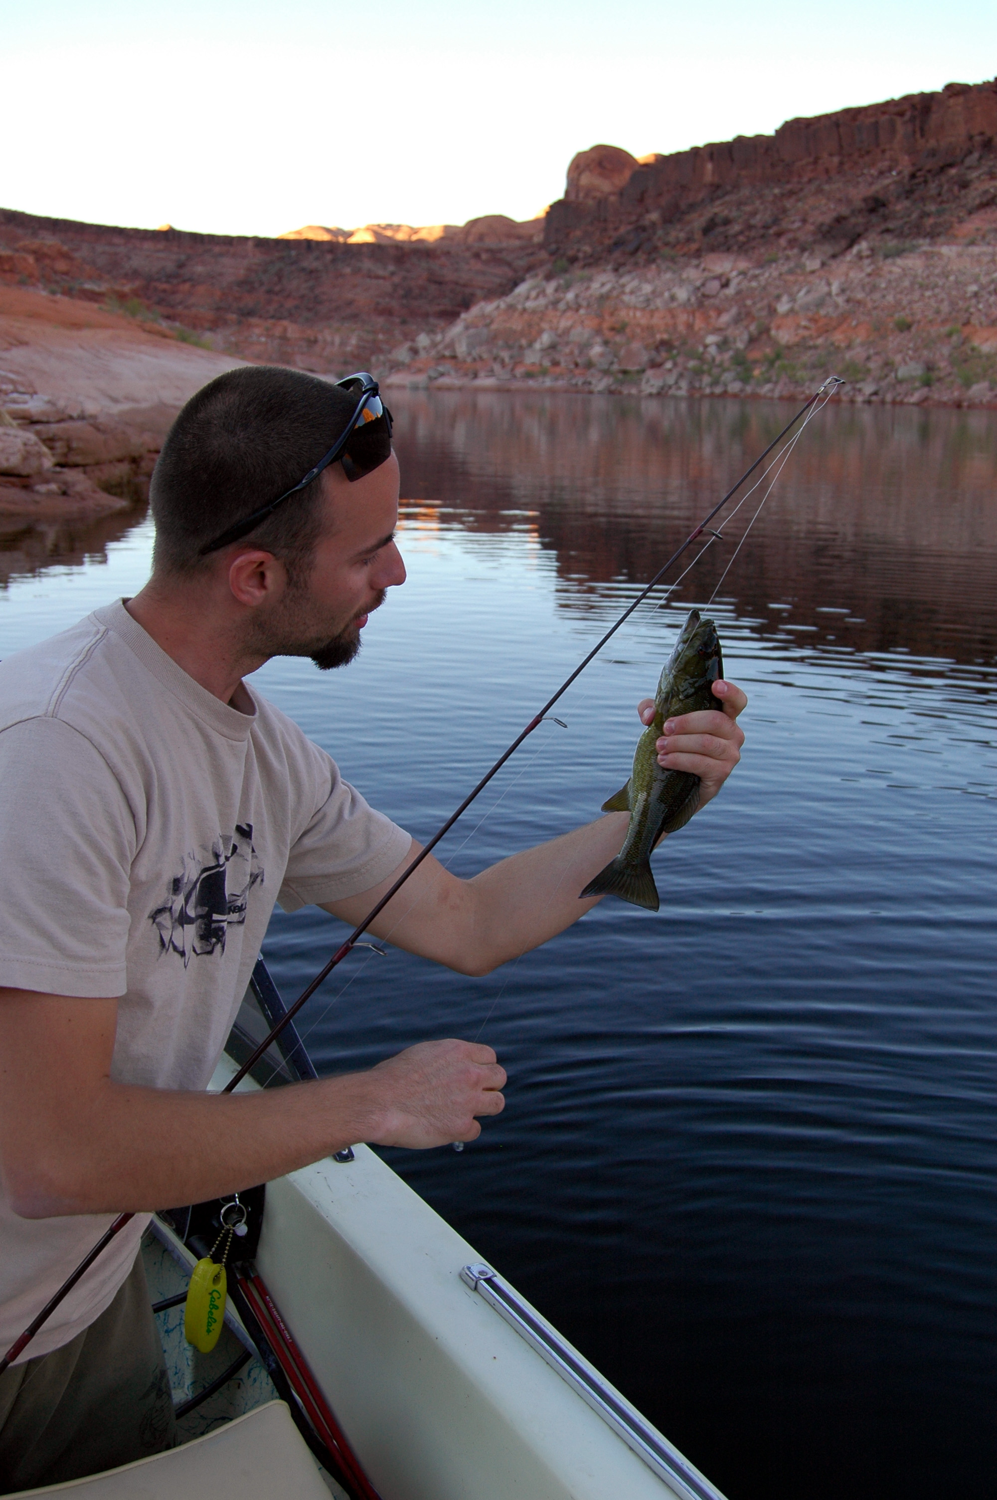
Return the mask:
<svg viewBox="0 0 997 1500">
<path fill-rule="evenodd" d="M 288 855 L 277 896 L 285 912 L 369 891 L 397 870 L 412 844 L 411 834 L 343 782 L 331 756 L 312 741 L 298 753 L 306 764 L 295 771 L 313 810 Z"/>
</svg>

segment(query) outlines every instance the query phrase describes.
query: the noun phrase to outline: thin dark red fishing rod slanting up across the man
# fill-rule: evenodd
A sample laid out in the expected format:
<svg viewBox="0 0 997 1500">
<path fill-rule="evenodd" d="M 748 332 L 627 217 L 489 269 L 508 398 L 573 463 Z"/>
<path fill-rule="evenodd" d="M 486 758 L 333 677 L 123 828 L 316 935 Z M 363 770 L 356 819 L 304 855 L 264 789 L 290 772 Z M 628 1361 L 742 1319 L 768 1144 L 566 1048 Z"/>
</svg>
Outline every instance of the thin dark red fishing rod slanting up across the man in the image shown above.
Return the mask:
<svg viewBox="0 0 997 1500">
<path fill-rule="evenodd" d="M 436 848 L 436 844 L 441 842 L 441 838 L 444 838 L 450 832 L 450 830 L 457 822 L 457 819 L 462 818 L 466 813 L 466 810 L 471 807 L 471 802 L 474 802 L 474 800 L 484 790 L 484 788 L 489 784 L 489 782 L 495 776 L 498 776 L 498 772 L 502 770 L 502 766 L 505 765 L 505 762 L 513 754 L 516 754 L 516 752 L 519 750 L 519 747 L 522 746 L 522 742 L 525 740 L 528 740 L 529 735 L 532 735 L 534 729 L 540 728 L 540 724 L 544 722 L 544 718 L 547 717 L 547 714 L 550 712 L 550 710 L 553 708 L 553 705 L 558 702 L 558 699 L 564 698 L 564 694 L 571 687 L 571 684 L 574 682 L 574 680 L 577 676 L 580 676 L 582 672 L 585 670 L 585 668 L 589 664 L 589 662 L 592 662 L 600 654 L 600 651 L 603 650 L 603 646 L 606 645 L 606 642 L 612 640 L 612 638 L 616 634 L 616 632 L 621 628 L 621 626 L 624 626 L 630 620 L 630 616 L 633 615 L 633 612 L 636 609 L 639 609 L 640 604 L 643 604 L 645 598 L 648 598 L 648 596 L 658 586 L 658 584 L 661 582 L 661 579 L 664 578 L 664 574 L 669 572 L 669 568 L 673 567 L 678 562 L 678 560 L 693 546 L 694 542 L 699 540 L 699 537 L 702 537 L 705 532 L 709 531 L 709 524 L 714 519 L 714 516 L 718 516 L 720 512 L 724 508 L 724 506 L 730 500 L 733 500 L 733 496 L 738 494 L 738 490 L 741 489 L 741 486 L 744 484 L 744 482 L 747 478 L 750 478 L 754 474 L 754 471 L 759 468 L 759 465 L 762 465 L 765 462 L 765 459 L 769 456 L 769 453 L 772 452 L 772 448 L 775 448 L 783 441 L 783 438 L 789 432 L 793 430 L 793 428 L 796 426 L 796 423 L 799 422 L 799 418 L 804 417 L 811 410 L 811 406 L 814 406 L 814 404 L 825 394 L 825 392 L 828 393 L 828 399 L 829 399 L 846 382 L 841 380 L 840 375 L 829 375 L 828 380 L 823 382 L 823 386 L 820 386 L 814 392 L 814 394 L 810 398 L 810 400 L 805 402 L 799 408 L 799 411 L 796 412 L 796 416 L 790 422 L 786 423 L 786 426 L 783 428 L 783 430 L 775 438 L 772 438 L 772 441 L 769 442 L 769 446 L 765 448 L 763 453 L 759 454 L 759 458 L 754 460 L 754 464 L 744 471 L 744 474 L 741 476 L 741 478 L 738 480 L 738 483 L 733 484 L 727 490 L 727 494 L 723 496 L 723 500 L 718 500 L 717 504 L 714 506 L 714 508 L 706 516 L 703 516 L 703 519 L 699 522 L 697 526 L 693 528 L 693 531 L 690 531 L 690 534 L 685 538 L 685 542 L 679 548 L 676 548 L 676 550 L 672 554 L 672 556 L 669 558 L 669 561 L 664 562 L 658 568 L 658 572 L 654 574 L 654 578 L 651 579 L 651 582 L 627 606 L 627 609 L 615 621 L 615 624 L 612 624 L 610 628 L 606 632 L 606 634 L 592 646 L 592 650 L 589 651 L 589 654 L 582 662 L 579 662 L 579 664 L 574 668 L 574 670 L 568 676 L 565 676 L 564 682 L 556 690 L 556 693 L 553 693 L 547 699 L 547 702 L 543 705 L 543 708 L 537 714 L 534 714 L 534 717 L 529 720 L 529 723 L 526 724 L 526 728 L 523 730 L 520 730 L 519 735 L 516 735 L 516 738 L 513 740 L 513 742 L 502 752 L 502 754 L 498 758 L 498 760 L 495 762 L 495 765 L 489 771 L 484 772 L 484 776 L 481 777 L 481 780 L 478 782 L 478 784 L 474 788 L 474 790 L 469 792 L 465 796 L 465 800 L 460 804 L 460 807 L 457 807 L 457 810 L 450 814 L 450 818 L 447 819 L 447 822 L 442 824 L 441 828 L 436 830 L 436 832 L 429 840 L 429 843 L 423 849 L 420 849 L 420 852 L 415 855 L 415 858 L 412 860 L 412 862 L 405 867 L 405 870 L 397 878 L 397 880 L 394 882 L 394 885 L 391 886 L 391 890 L 387 891 L 375 906 L 370 908 L 370 910 L 367 912 L 367 915 L 364 916 L 364 920 L 360 922 L 360 926 L 354 927 L 354 930 L 351 932 L 349 938 L 346 938 L 346 940 L 339 945 L 339 948 L 331 956 L 331 958 L 328 960 L 328 963 L 322 969 L 319 969 L 319 972 L 315 975 L 315 978 L 309 984 L 306 984 L 306 987 L 301 990 L 301 993 L 298 994 L 298 998 L 294 1002 L 294 1005 L 291 1005 L 289 1010 L 286 1010 L 283 1012 L 283 1016 L 280 1017 L 280 1020 L 264 1036 L 264 1040 L 259 1042 L 259 1046 L 249 1054 L 249 1058 L 241 1065 L 241 1068 L 225 1084 L 225 1088 L 222 1089 L 222 1094 L 231 1094 L 232 1089 L 235 1089 L 243 1082 L 243 1078 L 250 1071 L 250 1068 L 253 1068 L 259 1062 L 259 1059 L 267 1052 L 267 1048 L 277 1040 L 277 1036 L 280 1035 L 280 1032 L 283 1030 L 283 1028 L 291 1024 L 291 1022 L 298 1014 L 298 1011 L 306 1004 L 306 1000 L 310 1000 L 310 998 L 315 994 L 315 992 L 318 990 L 318 987 L 321 984 L 324 984 L 325 980 L 330 976 L 330 974 L 333 972 L 333 969 L 337 964 L 340 964 L 343 962 L 343 958 L 357 946 L 357 944 L 360 942 L 360 939 L 363 938 L 363 934 L 370 927 L 370 922 L 375 921 L 381 915 L 381 912 L 384 910 L 384 908 L 388 904 L 388 902 L 394 896 L 397 896 L 397 892 L 402 890 L 402 886 L 409 879 L 409 876 L 415 874 L 415 872 L 418 870 L 418 867 L 423 862 L 423 860 L 429 854 L 432 854 L 432 850 Z M 124 1226 L 129 1224 L 133 1218 L 135 1218 L 135 1214 L 118 1214 L 118 1216 L 105 1230 L 105 1233 L 100 1236 L 100 1239 L 96 1242 L 96 1245 L 93 1245 L 93 1248 L 90 1251 L 87 1251 L 87 1254 L 79 1262 L 79 1264 L 76 1266 L 76 1269 L 66 1278 L 66 1281 L 63 1281 L 63 1284 L 58 1288 L 58 1292 L 55 1292 L 55 1294 L 45 1304 L 45 1306 L 28 1323 L 28 1326 L 24 1329 L 24 1332 L 19 1335 L 19 1338 L 16 1338 L 13 1341 L 13 1344 L 6 1352 L 6 1354 L 3 1356 L 3 1359 L 0 1359 L 0 1376 L 3 1374 L 3 1371 L 10 1364 L 13 1364 L 13 1360 L 18 1358 L 18 1354 L 24 1353 L 24 1350 L 31 1342 L 31 1340 L 34 1338 L 34 1335 L 37 1334 L 37 1330 L 52 1316 L 52 1312 L 55 1311 L 55 1308 L 58 1306 L 58 1304 L 72 1292 L 72 1288 L 76 1286 L 76 1282 L 79 1281 L 79 1278 L 82 1275 L 85 1275 L 85 1272 L 90 1269 L 90 1266 L 94 1263 L 94 1260 L 106 1250 L 106 1246 L 111 1244 L 111 1240 L 117 1234 L 120 1234 L 121 1230 L 124 1228 Z"/>
</svg>

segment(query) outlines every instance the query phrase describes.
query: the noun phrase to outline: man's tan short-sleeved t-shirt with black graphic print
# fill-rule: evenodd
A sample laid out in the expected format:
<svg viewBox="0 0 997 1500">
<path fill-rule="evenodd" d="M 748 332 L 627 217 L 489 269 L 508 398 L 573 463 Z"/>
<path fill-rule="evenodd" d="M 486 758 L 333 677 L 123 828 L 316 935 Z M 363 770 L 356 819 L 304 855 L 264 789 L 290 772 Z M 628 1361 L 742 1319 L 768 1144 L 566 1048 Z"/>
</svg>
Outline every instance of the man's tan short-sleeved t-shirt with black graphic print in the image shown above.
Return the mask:
<svg viewBox="0 0 997 1500">
<path fill-rule="evenodd" d="M 253 714 L 220 702 L 120 602 L 0 663 L 0 986 L 118 996 L 115 1080 L 205 1088 L 274 902 L 366 891 L 408 854 L 409 834 L 250 698 Z M 0 1185 L 0 1353 L 109 1222 L 18 1218 Z M 24 1359 L 100 1316 L 147 1222 Z"/>
</svg>

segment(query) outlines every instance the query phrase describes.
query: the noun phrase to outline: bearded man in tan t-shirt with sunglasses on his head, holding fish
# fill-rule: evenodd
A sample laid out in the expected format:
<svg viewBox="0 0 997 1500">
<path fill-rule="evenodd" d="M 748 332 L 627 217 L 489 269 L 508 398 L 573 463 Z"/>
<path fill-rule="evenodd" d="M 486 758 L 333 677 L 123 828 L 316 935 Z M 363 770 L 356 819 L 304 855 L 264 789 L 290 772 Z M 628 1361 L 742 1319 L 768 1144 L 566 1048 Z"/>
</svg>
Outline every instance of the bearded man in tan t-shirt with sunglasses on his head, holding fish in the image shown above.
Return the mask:
<svg viewBox="0 0 997 1500">
<path fill-rule="evenodd" d="M 274 900 L 354 924 L 418 849 L 243 681 L 276 654 L 325 669 L 355 656 L 405 582 L 397 496 L 369 376 L 232 370 L 166 438 L 145 588 L 0 664 L 0 1352 L 109 1215 L 138 1215 L 0 1377 L 0 1490 L 174 1442 L 136 1258 L 150 1209 L 354 1142 L 474 1140 L 502 1108 L 495 1053 L 465 1041 L 205 1094 Z M 703 802 L 744 740 L 744 693 L 715 693 L 723 711 L 660 742 Z M 613 813 L 471 880 L 429 856 L 372 930 L 489 974 L 595 904 L 577 892 L 625 830 Z"/>
</svg>

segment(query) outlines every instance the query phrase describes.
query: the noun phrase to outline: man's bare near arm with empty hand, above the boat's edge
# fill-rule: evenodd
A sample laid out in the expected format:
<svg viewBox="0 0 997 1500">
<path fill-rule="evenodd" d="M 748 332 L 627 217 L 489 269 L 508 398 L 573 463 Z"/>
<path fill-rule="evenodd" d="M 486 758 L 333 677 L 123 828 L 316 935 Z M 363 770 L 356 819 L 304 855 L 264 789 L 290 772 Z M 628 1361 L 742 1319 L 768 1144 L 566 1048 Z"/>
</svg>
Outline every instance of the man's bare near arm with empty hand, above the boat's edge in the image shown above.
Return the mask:
<svg viewBox="0 0 997 1500">
<path fill-rule="evenodd" d="M 133 1088 L 109 1077 L 115 1024 L 114 999 L 0 988 L 0 1168 L 24 1218 L 199 1203 L 357 1142 L 474 1140 L 504 1106 L 495 1053 L 465 1041 L 243 1095 Z"/>
</svg>

